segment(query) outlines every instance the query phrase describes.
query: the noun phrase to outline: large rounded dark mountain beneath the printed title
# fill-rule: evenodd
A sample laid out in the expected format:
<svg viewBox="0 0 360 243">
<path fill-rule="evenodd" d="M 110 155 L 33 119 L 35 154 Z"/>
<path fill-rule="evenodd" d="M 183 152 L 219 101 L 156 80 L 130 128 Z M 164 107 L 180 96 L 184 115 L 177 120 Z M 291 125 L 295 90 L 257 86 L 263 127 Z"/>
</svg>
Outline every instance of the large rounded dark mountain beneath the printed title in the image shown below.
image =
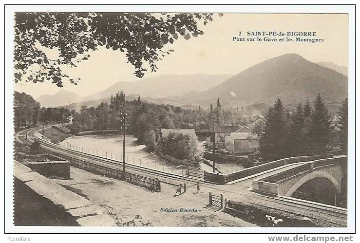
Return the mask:
<svg viewBox="0 0 360 243">
<path fill-rule="evenodd" d="M 191 95 L 172 97 L 184 105 L 246 106 L 272 104 L 279 96 L 284 104 L 313 101 L 321 93 L 326 103 L 347 97 L 348 80 L 335 70 L 310 62 L 297 54 L 286 54 L 256 64 L 225 82 Z"/>
</svg>

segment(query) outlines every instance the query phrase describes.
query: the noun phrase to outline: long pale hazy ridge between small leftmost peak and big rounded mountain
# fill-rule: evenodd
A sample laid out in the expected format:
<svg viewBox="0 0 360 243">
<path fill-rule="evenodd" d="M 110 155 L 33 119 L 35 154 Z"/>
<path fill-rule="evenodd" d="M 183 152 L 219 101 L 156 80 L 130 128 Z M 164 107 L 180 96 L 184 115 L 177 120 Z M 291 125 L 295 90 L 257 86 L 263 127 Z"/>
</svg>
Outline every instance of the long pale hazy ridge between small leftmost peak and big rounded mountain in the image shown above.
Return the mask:
<svg viewBox="0 0 360 243">
<path fill-rule="evenodd" d="M 117 82 L 110 88 L 91 94 L 84 101 L 110 97 L 117 91 L 151 98 L 164 98 L 194 91 L 205 91 L 224 82 L 231 75 L 160 75 L 133 82 Z"/>
</svg>

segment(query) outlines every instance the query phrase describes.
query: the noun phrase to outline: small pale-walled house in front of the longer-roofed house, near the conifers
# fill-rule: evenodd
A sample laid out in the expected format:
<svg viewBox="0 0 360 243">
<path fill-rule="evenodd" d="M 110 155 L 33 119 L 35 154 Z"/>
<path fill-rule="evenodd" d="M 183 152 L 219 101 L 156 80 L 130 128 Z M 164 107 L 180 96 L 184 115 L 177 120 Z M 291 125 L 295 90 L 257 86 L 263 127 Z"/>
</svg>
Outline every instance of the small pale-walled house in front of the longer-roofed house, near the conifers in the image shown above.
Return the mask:
<svg viewBox="0 0 360 243">
<path fill-rule="evenodd" d="M 225 137 L 225 151 L 230 154 L 249 154 L 259 148 L 259 138 L 251 132 L 231 132 Z"/>
</svg>

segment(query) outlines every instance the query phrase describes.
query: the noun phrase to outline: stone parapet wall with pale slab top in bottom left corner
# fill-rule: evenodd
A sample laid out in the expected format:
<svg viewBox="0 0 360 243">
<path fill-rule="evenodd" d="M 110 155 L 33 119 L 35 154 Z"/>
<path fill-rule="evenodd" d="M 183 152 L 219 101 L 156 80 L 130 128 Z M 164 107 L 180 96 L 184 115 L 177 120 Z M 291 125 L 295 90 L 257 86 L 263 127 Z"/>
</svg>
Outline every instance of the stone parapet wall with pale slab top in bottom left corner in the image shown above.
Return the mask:
<svg viewBox="0 0 360 243">
<path fill-rule="evenodd" d="M 14 180 L 15 225 L 116 225 L 100 206 L 17 161 L 14 161 Z"/>
</svg>

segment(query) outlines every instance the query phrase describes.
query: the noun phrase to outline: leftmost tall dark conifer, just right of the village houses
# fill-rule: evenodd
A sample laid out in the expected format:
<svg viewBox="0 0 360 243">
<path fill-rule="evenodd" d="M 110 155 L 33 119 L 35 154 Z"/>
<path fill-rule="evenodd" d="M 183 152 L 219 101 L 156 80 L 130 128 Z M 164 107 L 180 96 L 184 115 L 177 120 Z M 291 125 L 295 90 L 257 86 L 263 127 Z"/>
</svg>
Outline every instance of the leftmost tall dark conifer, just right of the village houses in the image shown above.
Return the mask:
<svg viewBox="0 0 360 243">
<path fill-rule="evenodd" d="M 284 106 L 279 97 L 274 107 L 271 106 L 266 114 L 259 149 L 266 160 L 284 158 L 288 154 Z"/>
</svg>

